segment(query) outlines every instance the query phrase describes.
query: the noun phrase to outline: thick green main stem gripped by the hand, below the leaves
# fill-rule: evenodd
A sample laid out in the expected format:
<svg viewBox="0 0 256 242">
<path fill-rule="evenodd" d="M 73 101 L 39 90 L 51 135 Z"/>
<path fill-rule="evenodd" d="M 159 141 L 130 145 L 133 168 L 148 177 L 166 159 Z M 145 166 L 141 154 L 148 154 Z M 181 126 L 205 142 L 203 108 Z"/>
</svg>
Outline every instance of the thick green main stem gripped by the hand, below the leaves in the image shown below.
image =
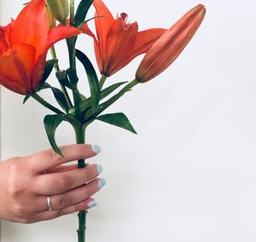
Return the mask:
<svg viewBox="0 0 256 242">
<path fill-rule="evenodd" d="M 77 144 L 84 144 L 85 142 L 85 128 L 82 128 L 82 126 L 74 127 L 75 134 L 76 134 L 76 141 Z M 79 159 L 78 161 L 78 167 L 79 169 L 84 168 L 86 166 L 84 159 Z M 78 239 L 79 242 L 85 242 L 85 229 L 86 229 L 86 215 L 87 210 L 79 211 L 79 229 L 78 232 Z"/>
</svg>

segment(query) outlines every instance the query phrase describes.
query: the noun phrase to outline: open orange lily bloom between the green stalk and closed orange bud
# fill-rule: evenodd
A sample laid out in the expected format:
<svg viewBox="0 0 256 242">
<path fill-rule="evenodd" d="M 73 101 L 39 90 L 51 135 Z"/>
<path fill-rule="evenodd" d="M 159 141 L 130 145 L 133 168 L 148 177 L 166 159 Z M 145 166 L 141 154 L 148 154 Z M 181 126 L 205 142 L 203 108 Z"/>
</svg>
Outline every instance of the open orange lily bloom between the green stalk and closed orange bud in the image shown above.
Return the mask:
<svg viewBox="0 0 256 242">
<path fill-rule="evenodd" d="M 96 36 L 84 25 L 83 32 L 94 38 L 100 72 L 109 77 L 128 65 L 137 55 L 148 51 L 166 29 L 154 28 L 138 32 L 137 22 L 127 23 L 127 14 L 113 15 L 102 0 L 94 0 Z"/>
</svg>

